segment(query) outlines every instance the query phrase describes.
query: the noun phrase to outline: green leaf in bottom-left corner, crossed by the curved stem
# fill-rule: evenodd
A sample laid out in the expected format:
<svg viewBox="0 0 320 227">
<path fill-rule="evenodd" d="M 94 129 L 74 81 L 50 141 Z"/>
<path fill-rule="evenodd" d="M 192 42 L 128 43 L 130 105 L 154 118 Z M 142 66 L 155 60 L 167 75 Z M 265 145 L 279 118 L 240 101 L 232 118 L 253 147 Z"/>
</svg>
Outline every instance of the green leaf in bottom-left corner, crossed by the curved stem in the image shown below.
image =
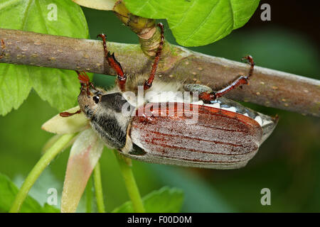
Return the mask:
<svg viewBox="0 0 320 227">
<path fill-rule="evenodd" d="M 8 212 L 14 198 L 18 193 L 18 188 L 11 182 L 9 177 L 0 173 L 0 211 Z M 58 213 L 60 212 L 53 206 L 45 204 L 41 206 L 36 199 L 27 196 L 21 207 L 21 213 Z"/>
</svg>

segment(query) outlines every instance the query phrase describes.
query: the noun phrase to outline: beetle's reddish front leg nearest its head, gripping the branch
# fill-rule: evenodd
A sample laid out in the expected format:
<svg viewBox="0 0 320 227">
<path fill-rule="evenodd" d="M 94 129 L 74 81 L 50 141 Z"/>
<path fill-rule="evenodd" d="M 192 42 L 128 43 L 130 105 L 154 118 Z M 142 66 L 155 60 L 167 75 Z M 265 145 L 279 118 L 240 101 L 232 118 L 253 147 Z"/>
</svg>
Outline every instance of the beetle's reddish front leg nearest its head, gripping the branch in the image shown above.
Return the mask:
<svg viewBox="0 0 320 227">
<path fill-rule="evenodd" d="M 117 72 L 119 89 L 122 92 L 124 92 L 125 91 L 125 84 L 126 84 L 126 81 L 127 81 L 127 75 L 124 74 L 120 63 L 114 57 L 114 53 L 110 54 L 110 51 L 107 50 L 107 42 L 105 40 L 106 35 L 105 34 L 99 34 L 99 35 L 97 35 L 97 37 L 102 38 L 103 49 L 105 50 L 105 59 L 107 60 L 107 62 L 110 65 L 110 67 L 112 67 L 112 69 L 114 69 L 114 71 Z"/>
</svg>

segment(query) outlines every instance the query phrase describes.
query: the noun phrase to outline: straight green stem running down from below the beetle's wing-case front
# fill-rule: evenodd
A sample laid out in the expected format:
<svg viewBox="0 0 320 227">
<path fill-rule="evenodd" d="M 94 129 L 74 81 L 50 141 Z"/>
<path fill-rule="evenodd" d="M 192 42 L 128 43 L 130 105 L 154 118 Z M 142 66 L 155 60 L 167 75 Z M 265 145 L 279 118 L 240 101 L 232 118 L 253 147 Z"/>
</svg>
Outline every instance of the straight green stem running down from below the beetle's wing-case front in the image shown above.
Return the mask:
<svg viewBox="0 0 320 227">
<path fill-rule="evenodd" d="M 117 151 L 114 151 L 114 153 L 117 156 L 120 170 L 124 178 L 124 184 L 127 187 L 127 192 L 132 201 L 134 211 L 137 213 L 145 213 L 146 211 L 144 209 L 144 204 L 142 202 L 142 198 L 140 196 L 139 189 L 132 172 L 131 160 L 127 157 L 122 156 Z"/>
</svg>

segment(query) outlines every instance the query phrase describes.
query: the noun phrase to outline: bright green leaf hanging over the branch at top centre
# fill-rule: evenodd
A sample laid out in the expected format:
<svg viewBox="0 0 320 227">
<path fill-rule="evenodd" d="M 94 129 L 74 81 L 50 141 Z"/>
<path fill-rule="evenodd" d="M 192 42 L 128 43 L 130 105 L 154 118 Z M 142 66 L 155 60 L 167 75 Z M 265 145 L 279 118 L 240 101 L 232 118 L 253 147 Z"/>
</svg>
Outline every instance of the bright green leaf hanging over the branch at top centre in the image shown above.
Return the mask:
<svg viewBox="0 0 320 227">
<path fill-rule="evenodd" d="M 166 19 L 184 46 L 213 43 L 247 23 L 259 0 L 125 0 L 137 16 Z"/>
</svg>

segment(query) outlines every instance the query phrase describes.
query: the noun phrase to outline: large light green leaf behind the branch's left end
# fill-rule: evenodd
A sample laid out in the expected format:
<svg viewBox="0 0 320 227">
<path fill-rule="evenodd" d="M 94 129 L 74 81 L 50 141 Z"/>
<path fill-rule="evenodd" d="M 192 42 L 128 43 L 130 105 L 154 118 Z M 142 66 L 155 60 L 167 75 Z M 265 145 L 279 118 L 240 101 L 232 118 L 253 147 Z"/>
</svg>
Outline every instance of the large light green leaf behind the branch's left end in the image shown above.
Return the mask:
<svg viewBox="0 0 320 227">
<path fill-rule="evenodd" d="M 0 27 L 73 38 L 89 37 L 85 16 L 73 1 L 2 0 Z M 73 71 L 1 64 L 0 114 L 17 109 L 32 87 L 41 99 L 59 111 L 74 106 L 79 93 L 79 82 Z"/>
</svg>

